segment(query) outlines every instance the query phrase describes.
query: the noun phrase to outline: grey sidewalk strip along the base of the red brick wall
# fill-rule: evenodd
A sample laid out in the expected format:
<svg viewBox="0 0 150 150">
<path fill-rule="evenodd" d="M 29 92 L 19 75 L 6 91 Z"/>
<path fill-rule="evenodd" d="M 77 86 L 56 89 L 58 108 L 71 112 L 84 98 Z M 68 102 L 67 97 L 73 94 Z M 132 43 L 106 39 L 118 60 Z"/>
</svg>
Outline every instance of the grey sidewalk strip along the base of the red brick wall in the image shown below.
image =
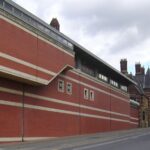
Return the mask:
<svg viewBox="0 0 150 150">
<path fill-rule="evenodd" d="M 71 147 L 101 143 L 114 139 L 127 138 L 130 136 L 141 135 L 148 132 L 150 133 L 150 128 L 139 128 L 81 136 L 70 136 L 43 141 L 2 144 L 0 145 L 0 150 L 60 150 L 65 148 L 69 150 L 71 149 Z"/>
</svg>

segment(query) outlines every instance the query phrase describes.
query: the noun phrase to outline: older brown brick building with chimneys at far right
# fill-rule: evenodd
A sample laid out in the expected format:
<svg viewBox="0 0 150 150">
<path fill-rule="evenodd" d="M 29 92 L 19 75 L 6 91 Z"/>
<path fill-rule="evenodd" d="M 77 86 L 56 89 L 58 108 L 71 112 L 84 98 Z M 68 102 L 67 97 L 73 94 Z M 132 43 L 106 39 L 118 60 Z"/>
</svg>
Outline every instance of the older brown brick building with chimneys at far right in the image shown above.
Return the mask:
<svg viewBox="0 0 150 150">
<path fill-rule="evenodd" d="M 139 106 L 139 125 L 140 127 L 150 126 L 150 68 L 145 73 L 145 68 L 141 67 L 140 63 L 135 64 L 135 75 L 128 74 L 127 60 L 120 61 L 121 72 L 126 74 L 137 84 L 130 85 L 128 90 L 130 99 L 140 103 Z"/>
</svg>

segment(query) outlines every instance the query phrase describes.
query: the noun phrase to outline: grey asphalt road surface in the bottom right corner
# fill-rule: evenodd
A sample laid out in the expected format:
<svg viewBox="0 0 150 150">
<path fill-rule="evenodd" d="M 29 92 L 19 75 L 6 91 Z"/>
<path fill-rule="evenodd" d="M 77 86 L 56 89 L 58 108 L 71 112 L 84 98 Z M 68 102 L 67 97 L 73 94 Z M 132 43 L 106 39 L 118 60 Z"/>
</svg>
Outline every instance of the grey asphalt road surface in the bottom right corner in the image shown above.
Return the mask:
<svg viewBox="0 0 150 150">
<path fill-rule="evenodd" d="M 150 150 L 150 134 L 84 145 L 72 148 L 72 150 Z"/>
</svg>

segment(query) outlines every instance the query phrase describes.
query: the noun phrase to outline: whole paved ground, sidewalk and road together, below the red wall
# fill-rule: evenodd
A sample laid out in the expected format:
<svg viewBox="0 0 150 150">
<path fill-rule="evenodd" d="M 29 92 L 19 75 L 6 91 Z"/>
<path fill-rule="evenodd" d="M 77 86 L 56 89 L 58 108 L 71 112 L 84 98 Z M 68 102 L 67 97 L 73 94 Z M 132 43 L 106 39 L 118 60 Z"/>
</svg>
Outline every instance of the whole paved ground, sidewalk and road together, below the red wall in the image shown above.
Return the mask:
<svg viewBox="0 0 150 150">
<path fill-rule="evenodd" d="M 0 145 L 0 150 L 150 150 L 150 128 Z"/>
</svg>

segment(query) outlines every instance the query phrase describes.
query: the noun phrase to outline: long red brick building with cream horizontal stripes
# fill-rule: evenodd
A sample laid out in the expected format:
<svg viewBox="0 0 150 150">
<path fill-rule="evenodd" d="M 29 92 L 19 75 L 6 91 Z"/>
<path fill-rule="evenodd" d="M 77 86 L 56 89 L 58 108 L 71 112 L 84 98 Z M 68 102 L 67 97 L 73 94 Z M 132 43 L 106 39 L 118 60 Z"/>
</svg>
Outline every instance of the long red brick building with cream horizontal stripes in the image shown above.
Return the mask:
<svg viewBox="0 0 150 150">
<path fill-rule="evenodd" d="M 137 128 L 135 82 L 11 0 L 0 0 L 0 142 Z"/>
</svg>

